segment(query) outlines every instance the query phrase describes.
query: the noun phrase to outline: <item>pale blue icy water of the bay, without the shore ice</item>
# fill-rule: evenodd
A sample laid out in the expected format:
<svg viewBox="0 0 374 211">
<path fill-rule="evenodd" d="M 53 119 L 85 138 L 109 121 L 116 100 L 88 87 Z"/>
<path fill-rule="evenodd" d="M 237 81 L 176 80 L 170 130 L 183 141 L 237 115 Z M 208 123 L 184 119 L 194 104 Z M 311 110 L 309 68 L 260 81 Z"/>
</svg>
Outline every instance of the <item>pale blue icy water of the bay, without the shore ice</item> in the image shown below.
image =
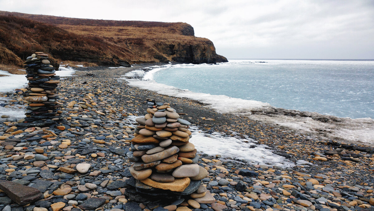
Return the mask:
<svg viewBox="0 0 374 211">
<path fill-rule="evenodd" d="M 374 61 L 230 60 L 218 65 L 172 66 L 153 73 L 153 79 L 279 108 L 374 118 Z"/>
</svg>

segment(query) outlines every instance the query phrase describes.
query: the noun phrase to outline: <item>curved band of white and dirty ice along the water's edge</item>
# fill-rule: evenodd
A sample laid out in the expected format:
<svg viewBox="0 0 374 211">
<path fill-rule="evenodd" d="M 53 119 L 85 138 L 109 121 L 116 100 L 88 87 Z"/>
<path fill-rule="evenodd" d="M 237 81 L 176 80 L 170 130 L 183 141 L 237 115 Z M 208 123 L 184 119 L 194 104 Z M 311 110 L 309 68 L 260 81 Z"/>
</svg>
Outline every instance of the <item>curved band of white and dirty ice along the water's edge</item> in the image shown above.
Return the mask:
<svg viewBox="0 0 374 211">
<path fill-rule="evenodd" d="M 219 113 L 245 116 L 251 120 L 272 124 L 285 130 L 303 133 L 312 138 L 340 140 L 354 144 L 374 146 L 374 120 L 371 118 L 339 118 L 332 115 L 319 114 L 317 112 L 276 108 L 269 103 L 255 100 L 181 90 L 173 86 L 157 83 L 153 80 L 153 74 L 155 72 L 174 66 L 176 65 L 168 64 L 160 66 L 160 68 L 157 69 L 134 70 L 132 71 L 134 73 L 127 73 L 125 78 L 122 79 L 125 79 L 129 85 L 134 87 L 168 96 L 197 100 L 206 104 L 206 107 L 212 108 Z M 188 66 L 196 65 L 180 64 L 178 67 L 181 66 L 188 68 Z"/>
</svg>

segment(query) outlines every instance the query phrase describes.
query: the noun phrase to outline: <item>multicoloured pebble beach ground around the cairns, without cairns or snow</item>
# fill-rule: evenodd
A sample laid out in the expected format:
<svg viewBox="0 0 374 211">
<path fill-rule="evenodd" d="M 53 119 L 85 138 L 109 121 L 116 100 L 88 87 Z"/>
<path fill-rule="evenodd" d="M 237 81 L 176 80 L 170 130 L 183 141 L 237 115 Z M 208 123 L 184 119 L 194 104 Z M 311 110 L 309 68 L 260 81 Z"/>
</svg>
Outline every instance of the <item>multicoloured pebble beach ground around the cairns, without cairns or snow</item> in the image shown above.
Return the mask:
<svg viewBox="0 0 374 211">
<path fill-rule="evenodd" d="M 58 102 L 63 121 L 54 127 L 21 128 L 2 114 L 0 180 L 34 187 L 43 197 L 19 205 L 0 192 L 0 210 L 374 210 L 373 147 L 319 140 L 247 117 L 220 114 L 195 100 L 141 90 L 119 79 L 150 65 L 154 64 L 81 67 L 74 76 L 61 77 Z M 7 107 L 26 103 L 14 91 L 0 97 L 7 99 L 3 105 Z M 196 147 L 197 164 L 208 171 L 200 195 L 135 202 L 126 195 L 132 164 L 126 153 L 135 119 L 147 114 L 147 98 L 169 103 L 204 137 L 219 134 L 264 145 L 288 166 L 205 154 Z"/>
</svg>

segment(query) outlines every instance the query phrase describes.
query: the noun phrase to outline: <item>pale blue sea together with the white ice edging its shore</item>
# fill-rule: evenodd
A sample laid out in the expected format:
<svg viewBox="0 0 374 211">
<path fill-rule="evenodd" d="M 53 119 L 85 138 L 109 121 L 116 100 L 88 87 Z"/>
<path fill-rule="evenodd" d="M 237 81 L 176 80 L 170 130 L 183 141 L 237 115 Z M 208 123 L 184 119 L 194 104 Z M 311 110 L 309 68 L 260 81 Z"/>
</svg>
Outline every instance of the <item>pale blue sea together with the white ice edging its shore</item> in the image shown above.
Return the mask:
<svg viewBox="0 0 374 211">
<path fill-rule="evenodd" d="M 312 138 L 374 145 L 373 60 L 229 60 L 127 73 L 130 85 Z"/>
</svg>

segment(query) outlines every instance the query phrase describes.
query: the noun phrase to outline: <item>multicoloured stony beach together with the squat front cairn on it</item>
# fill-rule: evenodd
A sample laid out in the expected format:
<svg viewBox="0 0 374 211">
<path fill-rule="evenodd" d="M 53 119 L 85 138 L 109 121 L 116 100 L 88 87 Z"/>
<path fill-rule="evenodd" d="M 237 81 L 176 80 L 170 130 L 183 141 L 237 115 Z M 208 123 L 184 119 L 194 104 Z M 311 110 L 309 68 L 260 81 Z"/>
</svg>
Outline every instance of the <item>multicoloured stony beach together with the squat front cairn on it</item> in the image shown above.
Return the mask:
<svg viewBox="0 0 374 211">
<path fill-rule="evenodd" d="M 374 210 L 373 147 L 219 114 L 118 79 L 139 67 L 61 77 L 56 124 L 1 116 L 1 211 Z M 9 99 L 0 106 L 30 105 L 29 91 L 0 93 Z M 188 142 L 192 126 L 248 136 L 293 165 L 205 154 Z"/>
</svg>

